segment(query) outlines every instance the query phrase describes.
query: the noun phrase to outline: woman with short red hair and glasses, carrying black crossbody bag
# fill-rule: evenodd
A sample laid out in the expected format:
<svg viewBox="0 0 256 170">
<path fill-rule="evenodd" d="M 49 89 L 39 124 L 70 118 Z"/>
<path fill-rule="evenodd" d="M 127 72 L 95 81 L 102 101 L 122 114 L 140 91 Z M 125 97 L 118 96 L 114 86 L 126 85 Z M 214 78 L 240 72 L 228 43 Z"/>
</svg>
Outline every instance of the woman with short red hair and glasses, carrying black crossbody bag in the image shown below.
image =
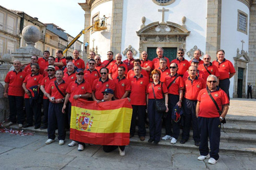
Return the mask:
<svg viewBox="0 0 256 170">
<path fill-rule="evenodd" d="M 153 82 L 149 83 L 147 86 L 147 113 L 149 120 L 149 143 L 154 141 L 154 144 L 158 144 L 161 138 L 161 129 L 162 129 L 162 115 L 156 110 L 156 100 L 165 99 L 166 112 L 168 112 L 168 90 L 165 83 L 160 81 L 161 72 L 157 69 L 154 69 L 152 72 Z"/>
</svg>

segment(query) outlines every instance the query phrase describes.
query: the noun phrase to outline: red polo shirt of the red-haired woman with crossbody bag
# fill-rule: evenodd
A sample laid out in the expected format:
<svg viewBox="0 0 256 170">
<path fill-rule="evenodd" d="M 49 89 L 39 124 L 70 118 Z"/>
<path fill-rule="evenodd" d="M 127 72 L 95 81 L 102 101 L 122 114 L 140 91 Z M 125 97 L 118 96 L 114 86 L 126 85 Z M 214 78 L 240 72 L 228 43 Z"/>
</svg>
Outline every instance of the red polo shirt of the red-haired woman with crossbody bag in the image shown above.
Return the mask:
<svg viewBox="0 0 256 170">
<path fill-rule="evenodd" d="M 165 83 L 162 83 L 162 88 L 161 88 L 161 83 L 162 82 L 159 81 L 158 84 L 156 84 L 156 85 L 155 85 L 154 82 L 149 83 L 147 85 L 146 93 L 148 94 L 148 99 L 155 99 L 153 89 L 152 89 L 152 85 L 153 85 L 153 88 L 154 88 L 156 99 L 163 99 L 162 95 L 168 93 L 168 90 L 167 90 L 167 87 L 166 87 Z"/>
</svg>

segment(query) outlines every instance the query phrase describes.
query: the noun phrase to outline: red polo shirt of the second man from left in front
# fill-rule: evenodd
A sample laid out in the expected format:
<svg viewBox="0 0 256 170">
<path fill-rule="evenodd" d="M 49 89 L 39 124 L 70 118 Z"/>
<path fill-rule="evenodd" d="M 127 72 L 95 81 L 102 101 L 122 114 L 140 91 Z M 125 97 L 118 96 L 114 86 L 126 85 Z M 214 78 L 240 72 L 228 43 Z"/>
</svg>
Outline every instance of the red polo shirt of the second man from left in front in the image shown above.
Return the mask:
<svg viewBox="0 0 256 170">
<path fill-rule="evenodd" d="M 32 86 L 38 86 L 39 84 L 41 84 L 42 79 L 43 79 L 43 76 L 40 75 L 39 73 L 34 76 L 32 76 L 31 74 L 31 75 L 27 75 L 23 82 L 26 83 L 26 88 L 29 89 Z M 29 99 L 29 96 L 26 93 L 25 93 L 25 99 Z"/>
</svg>

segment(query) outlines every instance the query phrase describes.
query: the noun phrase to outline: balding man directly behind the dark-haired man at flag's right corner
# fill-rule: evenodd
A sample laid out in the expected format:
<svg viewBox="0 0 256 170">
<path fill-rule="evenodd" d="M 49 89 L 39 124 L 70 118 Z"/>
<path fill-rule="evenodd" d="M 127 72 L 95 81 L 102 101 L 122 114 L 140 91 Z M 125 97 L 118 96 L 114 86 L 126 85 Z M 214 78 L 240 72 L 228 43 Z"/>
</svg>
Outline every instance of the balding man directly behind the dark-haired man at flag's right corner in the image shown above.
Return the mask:
<svg viewBox="0 0 256 170">
<path fill-rule="evenodd" d="M 115 55 L 115 64 L 109 69 L 109 78 L 111 80 L 116 79 L 118 77 L 118 68 L 123 66 L 125 67 L 125 75 L 127 75 L 127 66 L 122 62 L 122 55 Z"/>
</svg>

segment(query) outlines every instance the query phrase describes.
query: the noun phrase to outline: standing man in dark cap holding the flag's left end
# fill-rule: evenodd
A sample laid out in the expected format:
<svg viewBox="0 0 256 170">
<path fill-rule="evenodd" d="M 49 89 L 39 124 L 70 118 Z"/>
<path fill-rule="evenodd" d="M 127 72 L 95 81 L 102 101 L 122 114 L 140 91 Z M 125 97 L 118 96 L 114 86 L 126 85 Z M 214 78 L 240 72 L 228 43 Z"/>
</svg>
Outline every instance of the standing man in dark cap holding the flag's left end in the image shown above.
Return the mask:
<svg viewBox="0 0 256 170">
<path fill-rule="evenodd" d="M 89 60 L 89 67 L 90 62 L 92 59 Z M 77 69 L 76 70 L 76 81 L 73 81 L 68 84 L 68 87 L 66 89 L 66 98 L 65 102 L 62 108 L 62 112 L 65 113 L 66 105 L 68 104 L 68 122 L 70 124 L 71 121 L 71 106 L 74 100 L 79 101 L 87 101 L 88 98 L 91 98 L 91 85 L 84 79 L 84 70 L 83 69 Z M 83 142 L 77 142 L 72 141 L 68 144 L 69 147 L 73 147 L 74 145 L 78 144 L 78 151 L 83 151 L 85 147 L 85 143 Z"/>
</svg>

